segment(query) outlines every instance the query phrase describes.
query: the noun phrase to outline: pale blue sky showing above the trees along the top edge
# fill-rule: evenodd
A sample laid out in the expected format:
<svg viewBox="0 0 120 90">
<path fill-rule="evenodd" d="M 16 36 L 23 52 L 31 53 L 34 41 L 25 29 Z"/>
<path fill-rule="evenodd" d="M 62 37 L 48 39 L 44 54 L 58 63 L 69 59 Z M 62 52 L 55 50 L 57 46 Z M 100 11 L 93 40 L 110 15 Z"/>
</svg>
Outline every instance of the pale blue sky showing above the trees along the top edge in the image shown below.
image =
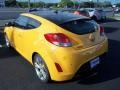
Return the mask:
<svg viewBox="0 0 120 90">
<path fill-rule="evenodd" d="M 17 1 L 28 1 L 28 0 L 17 0 Z M 44 2 L 59 2 L 61 0 L 30 0 L 31 2 L 33 1 L 44 1 Z M 90 0 L 79 0 L 79 1 L 90 1 Z M 92 0 L 92 1 L 97 1 L 97 0 Z M 99 0 L 99 1 L 110 1 L 112 3 L 120 3 L 120 0 Z"/>
</svg>

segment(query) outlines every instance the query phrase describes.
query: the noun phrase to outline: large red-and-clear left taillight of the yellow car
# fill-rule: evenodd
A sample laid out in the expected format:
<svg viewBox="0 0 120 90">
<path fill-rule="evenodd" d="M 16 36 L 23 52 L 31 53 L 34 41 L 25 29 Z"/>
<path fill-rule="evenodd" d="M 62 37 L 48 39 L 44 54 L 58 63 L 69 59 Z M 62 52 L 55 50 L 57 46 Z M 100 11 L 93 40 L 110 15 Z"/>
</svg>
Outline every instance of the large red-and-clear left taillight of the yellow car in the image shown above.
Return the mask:
<svg viewBox="0 0 120 90">
<path fill-rule="evenodd" d="M 70 39 L 62 33 L 47 33 L 44 35 L 45 39 L 57 46 L 70 47 L 72 43 Z"/>
</svg>

